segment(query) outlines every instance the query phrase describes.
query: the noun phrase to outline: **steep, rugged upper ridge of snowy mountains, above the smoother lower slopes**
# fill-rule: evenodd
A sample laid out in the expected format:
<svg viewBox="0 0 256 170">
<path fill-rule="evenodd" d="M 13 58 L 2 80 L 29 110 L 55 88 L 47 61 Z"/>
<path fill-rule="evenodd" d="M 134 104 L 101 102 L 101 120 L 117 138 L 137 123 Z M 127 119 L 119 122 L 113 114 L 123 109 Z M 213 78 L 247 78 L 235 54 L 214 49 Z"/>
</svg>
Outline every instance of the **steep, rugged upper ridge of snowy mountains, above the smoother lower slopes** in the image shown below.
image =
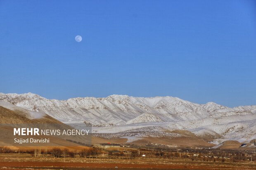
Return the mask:
<svg viewBox="0 0 256 170">
<path fill-rule="evenodd" d="M 94 125 L 120 125 L 129 122 L 157 122 L 159 120 L 165 122 L 193 121 L 209 116 L 246 115 L 256 111 L 256 106 L 229 108 L 214 102 L 199 105 L 171 96 L 143 98 L 110 95 L 106 98 L 50 100 L 33 93 L 0 93 L 0 100 L 30 111 L 49 114 L 62 122 L 90 121 Z M 145 113 L 147 114 L 143 115 Z"/>
</svg>

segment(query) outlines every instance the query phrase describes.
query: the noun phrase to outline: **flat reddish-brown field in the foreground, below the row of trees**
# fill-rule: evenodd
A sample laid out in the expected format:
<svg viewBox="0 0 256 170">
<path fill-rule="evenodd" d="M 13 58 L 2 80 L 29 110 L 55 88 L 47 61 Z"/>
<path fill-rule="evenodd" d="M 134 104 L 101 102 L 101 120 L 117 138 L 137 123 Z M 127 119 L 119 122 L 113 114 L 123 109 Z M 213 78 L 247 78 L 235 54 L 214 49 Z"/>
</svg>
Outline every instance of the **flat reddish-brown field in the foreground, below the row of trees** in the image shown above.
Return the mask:
<svg viewBox="0 0 256 170">
<path fill-rule="evenodd" d="M 254 170 L 254 162 L 223 163 L 165 158 L 34 158 L 28 154 L 0 154 L 0 170 Z"/>
</svg>

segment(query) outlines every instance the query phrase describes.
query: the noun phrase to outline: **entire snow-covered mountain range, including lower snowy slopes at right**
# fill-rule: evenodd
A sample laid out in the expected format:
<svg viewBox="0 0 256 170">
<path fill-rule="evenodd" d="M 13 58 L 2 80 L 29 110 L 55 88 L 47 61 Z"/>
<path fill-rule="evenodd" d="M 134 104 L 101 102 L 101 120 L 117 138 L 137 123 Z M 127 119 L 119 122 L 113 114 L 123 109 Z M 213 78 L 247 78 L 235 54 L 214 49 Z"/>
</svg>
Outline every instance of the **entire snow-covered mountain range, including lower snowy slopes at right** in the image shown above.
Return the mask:
<svg viewBox="0 0 256 170">
<path fill-rule="evenodd" d="M 0 100 L 33 112 L 48 114 L 63 123 L 91 123 L 97 133 L 159 126 L 188 130 L 197 136 L 216 136 L 213 143 L 256 138 L 256 105 L 225 107 L 214 102 L 192 103 L 176 97 L 46 99 L 33 93 L 0 93 Z M 213 137 L 214 138 L 214 137 Z"/>
</svg>

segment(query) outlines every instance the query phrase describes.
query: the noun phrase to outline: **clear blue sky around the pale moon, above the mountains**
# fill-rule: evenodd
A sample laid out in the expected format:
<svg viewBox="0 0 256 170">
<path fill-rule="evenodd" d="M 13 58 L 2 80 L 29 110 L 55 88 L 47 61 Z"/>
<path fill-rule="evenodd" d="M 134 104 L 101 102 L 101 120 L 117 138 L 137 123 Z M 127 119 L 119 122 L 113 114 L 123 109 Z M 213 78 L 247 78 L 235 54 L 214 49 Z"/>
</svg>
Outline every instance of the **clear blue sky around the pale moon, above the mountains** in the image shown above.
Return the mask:
<svg viewBox="0 0 256 170">
<path fill-rule="evenodd" d="M 0 0 L 0 92 L 256 105 L 256 1 Z"/>
</svg>

